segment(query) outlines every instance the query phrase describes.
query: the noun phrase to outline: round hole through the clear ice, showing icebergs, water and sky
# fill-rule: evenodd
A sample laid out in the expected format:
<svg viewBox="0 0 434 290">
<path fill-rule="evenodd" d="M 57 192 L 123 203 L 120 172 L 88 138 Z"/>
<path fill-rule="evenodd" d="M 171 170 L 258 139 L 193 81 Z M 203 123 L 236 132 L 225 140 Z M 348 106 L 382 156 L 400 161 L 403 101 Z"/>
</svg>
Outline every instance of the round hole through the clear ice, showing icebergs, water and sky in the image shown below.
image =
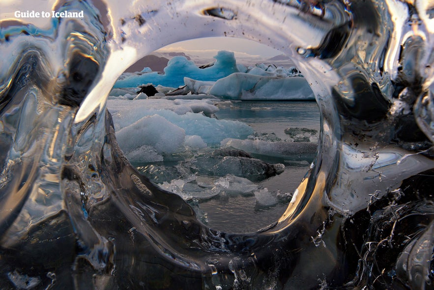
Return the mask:
<svg viewBox="0 0 434 290">
<path fill-rule="evenodd" d="M 238 79 L 230 80 L 234 74 Z M 255 86 L 264 79 L 268 84 L 296 79 L 311 95 L 291 99 L 306 96 L 299 90 L 283 96 L 282 84 L 269 86 L 257 99 L 259 90 L 249 88 L 231 97 L 206 91 L 223 78 L 230 81 L 214 91 L 224 94 L 243 82 Z M 320 126 L 309 84 L 289 57 L 246 39 L 193 39 L 152 52 L 119 80 L 108 101 L 117 139 L 129 161 L 152 182 L 180 195 L 217 230 L 252 232 L 285 212 L 311 167 Z M 150 85 L 155 95 L 142 90 Z M 173 93 L 183 86 L 191 88 Z M 145 93 L 149 96 L 139 97 Z M 131 142 L 137 146 L 123 147 Z M 252 176 L 263 164 L 280 174 Z"/>
</svg>

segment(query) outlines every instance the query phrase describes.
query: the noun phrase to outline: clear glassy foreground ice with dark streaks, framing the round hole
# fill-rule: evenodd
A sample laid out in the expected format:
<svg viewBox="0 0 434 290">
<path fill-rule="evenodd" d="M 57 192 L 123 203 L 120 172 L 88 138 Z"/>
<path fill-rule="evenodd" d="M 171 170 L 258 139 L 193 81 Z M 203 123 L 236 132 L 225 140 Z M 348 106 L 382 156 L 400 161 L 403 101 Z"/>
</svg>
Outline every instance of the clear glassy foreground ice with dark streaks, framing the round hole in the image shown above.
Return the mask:
<svg viewBox="0 0 434 290">
<path fill-rule="evenodd" d="M 0 4 L 1 289 L 433 288 L 432 1 L 50 0 L 84 19 L 13 19 L 33 4 Z M 286 53 L 320 108 L 312 168 L 250 234 L 140 175 L 105 109 L 129 65 L 207 36 Z"/>
</svg>

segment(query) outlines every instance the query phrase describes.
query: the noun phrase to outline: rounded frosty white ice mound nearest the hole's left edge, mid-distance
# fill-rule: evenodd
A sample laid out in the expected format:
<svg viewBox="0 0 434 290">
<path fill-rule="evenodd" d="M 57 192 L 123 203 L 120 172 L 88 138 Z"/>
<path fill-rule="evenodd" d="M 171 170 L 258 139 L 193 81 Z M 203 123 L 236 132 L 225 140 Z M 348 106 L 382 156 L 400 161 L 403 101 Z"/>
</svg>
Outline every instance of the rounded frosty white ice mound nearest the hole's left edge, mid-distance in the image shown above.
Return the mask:
<svg viewBox="0 0 434 290">
<path fill-rule="evenodd" d="M 124 152 L 149 145 L 162 154 L 174 153 L 184 142 L 185 132 L 165 118 L 153 115 L 120 129 L 116 137 Z"/>
</svg>

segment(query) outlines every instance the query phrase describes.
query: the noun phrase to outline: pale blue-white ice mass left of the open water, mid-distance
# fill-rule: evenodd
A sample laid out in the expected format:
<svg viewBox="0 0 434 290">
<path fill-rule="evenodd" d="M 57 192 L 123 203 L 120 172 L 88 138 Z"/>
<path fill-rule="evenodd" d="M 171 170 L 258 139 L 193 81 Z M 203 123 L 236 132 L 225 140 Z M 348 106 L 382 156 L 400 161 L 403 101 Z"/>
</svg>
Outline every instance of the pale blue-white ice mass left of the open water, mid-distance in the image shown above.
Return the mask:
<svg viewBox="0 0 434 290">
<path fill-rule="evenodd" d="M 153 148 L 148 152 L 154 157 L 147 159 L 157 161 L 161 158 L 154 151 L 167 155 L 186 146 L 200 149 L 220 144 L 226 138 L 243 139 L 253 132 L 244 123 L 205 116 L 218 110 L 209 99 L 112 99 L 107 108 L 112 113 L 119 146 L 131 162 L 146 160 L 136 154 L 145 145 Z"/>
</svg>

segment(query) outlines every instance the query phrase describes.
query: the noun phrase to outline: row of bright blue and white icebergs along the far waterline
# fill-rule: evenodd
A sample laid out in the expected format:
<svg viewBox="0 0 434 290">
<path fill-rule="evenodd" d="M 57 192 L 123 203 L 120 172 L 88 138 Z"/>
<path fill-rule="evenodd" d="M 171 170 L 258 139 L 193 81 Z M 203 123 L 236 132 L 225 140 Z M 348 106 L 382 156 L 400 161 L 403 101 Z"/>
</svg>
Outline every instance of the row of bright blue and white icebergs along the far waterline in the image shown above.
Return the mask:
<svg viewBox="0 0 434 290">
<path fill-rule="evenodd" d="M 178 94 L 190 92 L 241 100 L 315 99 L 308 82 L 295 67 L 257 64 L 239 69 L 233 53 L 228 51 L 219 51 L 215 58 L 215 64 L 203 69 L 196 67 L 185 57 L 177 56 L 168 63 L 164 74 L 124 73 L 116 81 L 111 95 L 120 96 L 122 91 L 119 88 L 152 83 L 155 86 L 172 86 L 172 91 L 183 86 Z"/>
</svg>

